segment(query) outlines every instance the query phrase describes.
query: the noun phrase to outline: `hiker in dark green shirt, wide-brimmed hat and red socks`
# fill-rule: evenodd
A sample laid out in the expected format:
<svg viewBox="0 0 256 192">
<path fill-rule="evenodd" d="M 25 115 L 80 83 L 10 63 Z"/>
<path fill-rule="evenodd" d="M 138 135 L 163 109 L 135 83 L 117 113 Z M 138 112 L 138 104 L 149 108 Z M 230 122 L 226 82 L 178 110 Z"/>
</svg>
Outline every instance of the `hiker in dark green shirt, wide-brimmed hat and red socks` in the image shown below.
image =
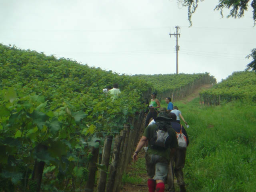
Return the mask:
<svg viewBox="0 0 256 192">
<path fill-rule="evenodd" d="M 138 159 L 138 153 L 148 141 L 146 151 L 146 168 L 148 173 L 148 191 L 164 192 L 164 182 L 168 174 L 170 153 L 178 147 L 175 131 L 170 124 L 166 112 L 160 112 L 155 118 L 156 123 L 149 125 L 144 130 L 136 150 L 132 156 L 134 162 Z"/>
</svg>

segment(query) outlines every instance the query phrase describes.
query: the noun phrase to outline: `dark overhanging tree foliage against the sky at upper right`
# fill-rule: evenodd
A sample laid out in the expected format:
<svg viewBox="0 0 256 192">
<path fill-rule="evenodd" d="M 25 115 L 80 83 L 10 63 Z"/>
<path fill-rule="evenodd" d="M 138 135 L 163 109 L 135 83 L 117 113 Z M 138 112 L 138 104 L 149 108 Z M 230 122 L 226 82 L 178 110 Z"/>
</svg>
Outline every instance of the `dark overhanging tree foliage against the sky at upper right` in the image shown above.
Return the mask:
<svg viewBox="0 0 256 192">
<path fill-rule="evenodd" d="M 188 20 L 190 22 L 190 26 L 192 26 L 192 14 L 196 11 L 198 7 L 199 0 L 178 0 L 182 1 L 183 6 L 188 7 Z M 203 0 L 200 0 L 203 1 Z M 244 11 L 248 10 L 248 4 L 250 0 L 219 0 L 219 4 L 216 5 L 214 10 L 220 10 L 220 14 L 223 17 L 223 9 L 227 8 L 230 10 L 227 18 L 241 18 L 244 16 Z M 256 0 L 252 0 L 251 7 L 252 11 L 252 19 L 254 22 L 254 26 L 256 25 Z M 246 70 L 253 70 L 256 72 L 256 48 L 252 49 L 251 54 L 249 54 L 246 58 L 253 58 L 253 61 L 247 65 Z"/>
</svg>

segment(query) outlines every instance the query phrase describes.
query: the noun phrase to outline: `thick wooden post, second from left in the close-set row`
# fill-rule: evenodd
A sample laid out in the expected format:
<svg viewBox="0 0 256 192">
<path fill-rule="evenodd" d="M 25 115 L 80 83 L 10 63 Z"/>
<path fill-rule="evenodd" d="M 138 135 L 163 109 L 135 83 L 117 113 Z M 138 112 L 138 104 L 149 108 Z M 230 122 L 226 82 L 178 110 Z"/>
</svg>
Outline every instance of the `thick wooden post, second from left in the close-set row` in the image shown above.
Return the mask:
<svg viewBox="0 0 256 192">
<path fill-rule="evenodd" d="M 109 164 L 109 160 L 110 160 L 112 140 L 113 140 L 112 135 L 106 136 L 104 146 L 103 146 L 101 164 L 105 165 L 107 170 L 108 170 L 108 164 Z M 98 183 L 98 189 L 97 189 L 98 192 L 105 191 L 106 179 L 107 179 L 107 173 L 104 170 L 100 170 L 99 183 Z"/>
</svg>

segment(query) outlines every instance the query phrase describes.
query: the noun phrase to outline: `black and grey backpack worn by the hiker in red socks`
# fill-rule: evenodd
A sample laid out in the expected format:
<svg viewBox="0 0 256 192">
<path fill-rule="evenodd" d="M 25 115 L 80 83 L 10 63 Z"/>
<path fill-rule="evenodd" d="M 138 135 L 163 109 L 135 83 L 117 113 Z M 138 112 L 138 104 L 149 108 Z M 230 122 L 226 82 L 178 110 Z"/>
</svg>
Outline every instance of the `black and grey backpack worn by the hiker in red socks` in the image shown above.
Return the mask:
<svg viewBox="0 0 256 192">
<path fill-rule="evenodd" d="M 156 130 L 154 135 L 149 141 L 151 148 L 156 150 L 165 150 L 168 148 L 170 143 L 170 137 L 168 134 L 168 129 L 171 128 L 171 125 L 166 122 L 156 122 Z"/>
</svg>

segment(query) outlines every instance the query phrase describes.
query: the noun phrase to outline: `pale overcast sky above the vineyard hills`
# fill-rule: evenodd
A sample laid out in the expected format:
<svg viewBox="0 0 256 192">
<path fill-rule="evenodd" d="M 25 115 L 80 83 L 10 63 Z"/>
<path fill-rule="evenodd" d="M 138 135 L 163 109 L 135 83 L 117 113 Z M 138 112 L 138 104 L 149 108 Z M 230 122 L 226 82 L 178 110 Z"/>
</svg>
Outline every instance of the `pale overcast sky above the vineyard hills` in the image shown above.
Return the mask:
<svg viewBox="0 0 256 192">
<path fill-rule="evenodd" d="M 251 1 L 250 1 L 251 2 Z M 0 0 L 0 43 L 72 58 L 120 74 L 209 72 L 218 82 L 246 68 L 256 48 L 252 8 L 221 18 L 218 0 L 199 2 L 189 28 L 177 0 Z M 249 3 L 250 4 L 250 3 Z"/>
</svg>

